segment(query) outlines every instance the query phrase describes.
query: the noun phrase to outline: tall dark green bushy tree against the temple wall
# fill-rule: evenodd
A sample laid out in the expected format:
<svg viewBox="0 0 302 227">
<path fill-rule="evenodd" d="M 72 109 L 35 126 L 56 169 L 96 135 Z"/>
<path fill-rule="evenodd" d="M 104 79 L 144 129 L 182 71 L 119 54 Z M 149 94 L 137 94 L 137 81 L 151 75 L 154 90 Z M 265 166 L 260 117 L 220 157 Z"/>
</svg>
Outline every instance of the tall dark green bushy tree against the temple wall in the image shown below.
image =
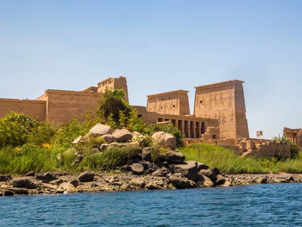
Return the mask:
<svg viewBox="0 0 302 227">
<path fill-rule="evenodd" d="M 126 116 L 129 116 L 131 111 L 129 103 L 125 101 L 125 92 L 123 90 L 107 90 L 99 101 L 99 104 L 98 115 L 105 118 L 106 121 L 108 119 L 110 121 L 113 120 L 116 125 L 119 125 L 121 111 Z"/>
</svg>

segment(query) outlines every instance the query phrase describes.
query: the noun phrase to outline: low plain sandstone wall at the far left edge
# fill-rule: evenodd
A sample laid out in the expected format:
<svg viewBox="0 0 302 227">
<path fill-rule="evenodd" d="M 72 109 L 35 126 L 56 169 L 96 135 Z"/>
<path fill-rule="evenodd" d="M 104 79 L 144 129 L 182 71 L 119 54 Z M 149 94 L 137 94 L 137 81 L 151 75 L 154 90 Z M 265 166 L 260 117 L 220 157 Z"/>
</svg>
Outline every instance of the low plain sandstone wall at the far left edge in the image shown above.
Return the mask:
<svg viewBox="0 0 302 227">
<path fill-rule="evenodd" d="M 10 111 L 45 121 L 46 101 L 0 99 L 0 118 L 3 118 Z"/>
</svg>

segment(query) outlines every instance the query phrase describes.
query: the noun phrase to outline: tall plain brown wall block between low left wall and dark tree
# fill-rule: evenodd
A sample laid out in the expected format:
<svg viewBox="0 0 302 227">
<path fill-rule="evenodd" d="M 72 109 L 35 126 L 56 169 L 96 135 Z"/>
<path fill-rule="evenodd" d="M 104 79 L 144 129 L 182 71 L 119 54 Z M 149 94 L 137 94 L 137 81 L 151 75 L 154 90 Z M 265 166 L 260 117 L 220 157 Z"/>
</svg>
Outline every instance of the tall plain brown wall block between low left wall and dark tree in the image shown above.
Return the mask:
<svg viewBox="0 0 302 227">
<path fill-rule="evenodd" d="M 87 110 L 95 115 L 101 97 L 101 93 L 47 90 L 38 99 L 47 101 L 47 121 L 59 123 L 71 121 L 74 117 L 84 121 Z"/>
</svg>

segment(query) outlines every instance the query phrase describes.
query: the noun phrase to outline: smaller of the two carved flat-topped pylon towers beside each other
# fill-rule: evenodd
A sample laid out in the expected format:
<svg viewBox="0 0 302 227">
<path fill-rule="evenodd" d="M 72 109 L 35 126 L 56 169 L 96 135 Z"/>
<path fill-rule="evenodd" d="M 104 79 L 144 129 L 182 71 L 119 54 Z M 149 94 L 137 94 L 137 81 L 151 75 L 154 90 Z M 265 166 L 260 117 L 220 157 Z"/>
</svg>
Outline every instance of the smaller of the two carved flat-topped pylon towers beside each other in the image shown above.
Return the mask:
<svg viewBox="0 0 302 227">
<path fill-rule="evenodd" d="M 147 97 L 147 111 L 159 114 L 190 114 L 188 91 L 177 90 Z"/>
</svg>

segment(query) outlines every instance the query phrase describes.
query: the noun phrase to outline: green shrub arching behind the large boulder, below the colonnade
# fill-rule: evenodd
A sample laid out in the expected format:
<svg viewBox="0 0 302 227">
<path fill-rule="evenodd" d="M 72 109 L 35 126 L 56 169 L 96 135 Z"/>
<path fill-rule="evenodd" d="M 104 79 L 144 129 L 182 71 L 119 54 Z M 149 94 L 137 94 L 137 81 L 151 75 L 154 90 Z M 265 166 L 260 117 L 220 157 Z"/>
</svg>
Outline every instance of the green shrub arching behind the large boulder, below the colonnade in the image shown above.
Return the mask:
<svg viewBox="0 0 302 227">
<path fill-rule="evenodd" d="M 176 138 L 176 147 L 183 147 L 182 138 L 184 138 L 184 136 L 181 131 L 173 125 L 151 124 L 144 128 L 144 133 L 149 134 L 150 136 L 157 131 L 164 131 L 174 135 Z"/>
</svg>

